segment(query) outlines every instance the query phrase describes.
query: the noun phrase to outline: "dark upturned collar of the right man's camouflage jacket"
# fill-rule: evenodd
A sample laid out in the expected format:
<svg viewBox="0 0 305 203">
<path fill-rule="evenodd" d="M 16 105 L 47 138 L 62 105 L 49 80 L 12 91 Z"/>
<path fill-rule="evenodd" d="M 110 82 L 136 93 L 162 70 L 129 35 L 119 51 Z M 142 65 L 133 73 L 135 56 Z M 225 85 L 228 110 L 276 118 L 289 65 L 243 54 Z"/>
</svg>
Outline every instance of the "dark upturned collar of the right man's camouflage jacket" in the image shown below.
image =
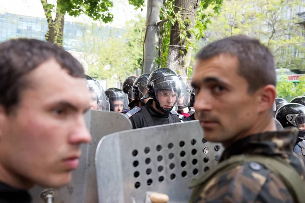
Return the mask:
<svg viewBox="0 0 305 203">
<path fill-rule="evenodd" d="M 226 148 L 219 161 L 239 154 L 280 155 L 287 158 L 287 154 L 292 153 L 297 134 L 295 127 L 252 134 Z"/>
</svg>

